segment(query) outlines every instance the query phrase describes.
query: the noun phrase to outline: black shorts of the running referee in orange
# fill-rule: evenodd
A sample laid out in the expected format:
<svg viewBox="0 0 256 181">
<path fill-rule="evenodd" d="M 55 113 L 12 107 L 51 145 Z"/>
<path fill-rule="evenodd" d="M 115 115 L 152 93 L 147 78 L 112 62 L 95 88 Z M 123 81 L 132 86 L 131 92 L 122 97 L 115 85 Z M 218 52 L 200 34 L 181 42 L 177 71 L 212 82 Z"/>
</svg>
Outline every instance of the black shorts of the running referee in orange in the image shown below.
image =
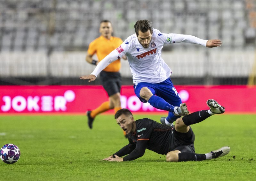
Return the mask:
<svg viewBox="0 0 256 181">
<path fill-rule="evenodd" d="M 119 72 L 101 71 L 100 82 L 108 96 L 112 96 L 121 90 L 121 74 Z"/>
</svg>

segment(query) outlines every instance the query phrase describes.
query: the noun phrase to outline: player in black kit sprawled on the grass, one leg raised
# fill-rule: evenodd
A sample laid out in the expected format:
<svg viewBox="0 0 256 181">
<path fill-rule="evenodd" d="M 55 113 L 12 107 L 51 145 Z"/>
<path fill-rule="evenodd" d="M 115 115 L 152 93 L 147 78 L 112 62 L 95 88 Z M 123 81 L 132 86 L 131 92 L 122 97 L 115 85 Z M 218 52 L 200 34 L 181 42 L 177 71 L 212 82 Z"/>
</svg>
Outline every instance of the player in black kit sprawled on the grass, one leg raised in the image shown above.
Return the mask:
<svg viewBox="0 0 256 181">
<path fill-rule="evenodd" d="M 225 107 L 209 99 L 209 110 L 193 112 L 178 118 L 174 127 L 157 123 L 148 118 L 134 120 L 128 109 L 120 109 L 115 114 L 117 124 L 128 134 L 129 144 L 115 154 L 105 158 L 107 161 L 131 161 L 144 155 L 146 148 L 166 155 L 166 161 L 202 161 L 219 158 L 230 151 L 228 146 L 206 154 L 195 153 L 195 134 L 189 125 L 199 123 L 213 114 L 225 112 Z M 124 156 L 124 157 L 122 157 Z"/>
</svg>

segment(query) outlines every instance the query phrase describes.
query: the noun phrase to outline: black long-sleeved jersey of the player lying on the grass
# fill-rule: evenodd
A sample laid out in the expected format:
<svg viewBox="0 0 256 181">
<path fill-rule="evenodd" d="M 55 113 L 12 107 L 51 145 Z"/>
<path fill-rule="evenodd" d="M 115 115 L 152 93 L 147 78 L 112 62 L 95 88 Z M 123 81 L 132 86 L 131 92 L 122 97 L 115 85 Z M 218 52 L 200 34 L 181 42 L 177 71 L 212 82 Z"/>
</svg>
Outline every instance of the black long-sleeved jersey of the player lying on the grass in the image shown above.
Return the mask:
<svg viewBox="0 0 256 181">
<path fill-rule="evenodd" d="M 134 160 L 144 155 L 146 148 L 158 154 L 166 155 L 182 142 L 173 136 L 173 127 L 144 118 L 135 121 L 136 130 L 128 135 L 129 144 L 114 155 L 125 156 L 124 161 Z"/>
</svg>

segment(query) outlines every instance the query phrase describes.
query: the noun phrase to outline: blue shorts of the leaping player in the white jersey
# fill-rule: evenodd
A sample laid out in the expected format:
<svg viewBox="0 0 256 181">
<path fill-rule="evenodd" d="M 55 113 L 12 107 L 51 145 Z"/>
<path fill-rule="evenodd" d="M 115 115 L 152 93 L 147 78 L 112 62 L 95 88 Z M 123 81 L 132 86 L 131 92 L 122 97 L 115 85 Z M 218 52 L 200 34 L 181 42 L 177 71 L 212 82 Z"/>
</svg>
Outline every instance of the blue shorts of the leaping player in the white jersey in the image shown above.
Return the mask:
<svg viewBox="0 0 256 181">
<path fill-rule="evenodd" d="M 141 102 L 145 103 L 147 101 L 140 97 L 140 90 L 142 87 L 148 87 L 148 89 L 153 93 L 153 95 L 163 98 L 166 102 L 168 102 L 171 105 L 180 106 L 180 103 L 182 103 L 180 96 L 176 89 L 174 88 L 170 77 L 160 83 L 141 82 L 133 86 L 136 96 L 140 99 Z"/>
</svg>

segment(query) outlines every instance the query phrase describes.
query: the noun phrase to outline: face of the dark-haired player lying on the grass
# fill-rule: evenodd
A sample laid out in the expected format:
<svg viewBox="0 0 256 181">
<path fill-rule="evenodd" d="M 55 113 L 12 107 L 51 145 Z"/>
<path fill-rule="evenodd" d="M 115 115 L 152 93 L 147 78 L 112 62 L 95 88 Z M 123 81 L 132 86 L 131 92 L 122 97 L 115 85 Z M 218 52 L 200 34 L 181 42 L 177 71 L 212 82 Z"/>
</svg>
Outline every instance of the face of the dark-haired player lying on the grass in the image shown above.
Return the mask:
<svg viewBox="0 0 256 181">
<path fill-rule="evenodd" d="M 127 134 L 135 131 L 135 130 L 133 130 L 134 118 L 132 115 L 126 116 L 126 115 L 122 114 L 121 116 L 119 116 L 116 119 L 116 122 Z"/>
</svg>

